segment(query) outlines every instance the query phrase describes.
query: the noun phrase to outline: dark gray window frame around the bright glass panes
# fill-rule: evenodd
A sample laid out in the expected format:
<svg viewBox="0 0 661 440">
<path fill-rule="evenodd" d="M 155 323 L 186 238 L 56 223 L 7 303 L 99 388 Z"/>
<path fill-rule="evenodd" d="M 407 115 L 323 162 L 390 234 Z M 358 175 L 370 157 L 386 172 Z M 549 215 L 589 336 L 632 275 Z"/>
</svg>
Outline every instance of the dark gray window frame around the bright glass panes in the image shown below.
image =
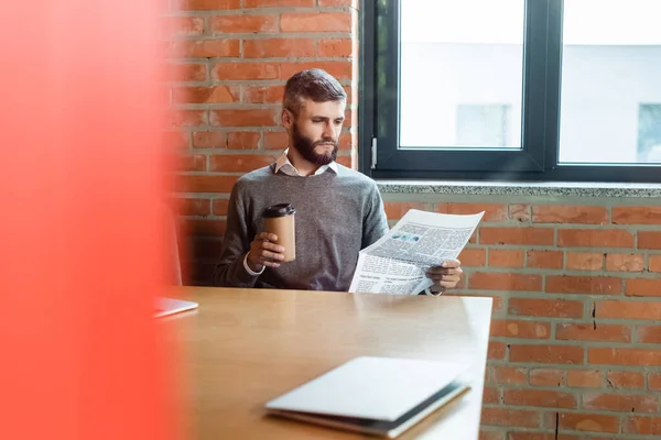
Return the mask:
<svg viewBox="0 0 661 440">
<path fill-rule="evenodd" d="M 401 1 L 361 2 L 358 157 L 364 174 L 376 179 L 661 183 L 661 165 L 559 163 L 564 0 L 525 0 L 520 150 L 399 148 Z"/>
</svg>

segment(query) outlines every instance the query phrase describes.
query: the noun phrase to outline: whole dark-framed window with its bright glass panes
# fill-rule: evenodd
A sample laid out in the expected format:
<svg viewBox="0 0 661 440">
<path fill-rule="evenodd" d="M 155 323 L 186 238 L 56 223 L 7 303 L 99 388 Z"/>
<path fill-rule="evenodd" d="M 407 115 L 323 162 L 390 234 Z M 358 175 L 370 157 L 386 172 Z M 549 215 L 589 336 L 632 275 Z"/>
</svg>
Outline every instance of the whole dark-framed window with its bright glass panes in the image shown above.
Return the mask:
<svg viewBox="0 0 661 440">
<path fill-rule="evenodd" d="M 361 169 L 661 182 L 657 2 L 366 2 Z"/>
</svg>

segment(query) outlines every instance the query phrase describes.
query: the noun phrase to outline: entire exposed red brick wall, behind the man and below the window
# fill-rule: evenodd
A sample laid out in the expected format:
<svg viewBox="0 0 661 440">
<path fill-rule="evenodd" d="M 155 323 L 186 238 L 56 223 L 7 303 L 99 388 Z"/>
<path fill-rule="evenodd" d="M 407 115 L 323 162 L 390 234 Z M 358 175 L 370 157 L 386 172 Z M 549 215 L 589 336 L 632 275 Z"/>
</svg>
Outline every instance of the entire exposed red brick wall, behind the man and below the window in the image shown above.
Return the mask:
<svg viewBox="0 0 661 440">
<path fill-rule="evenodd" d="M 173 0 L 174 1 L 174 0 Z M 351 0 L 185 0 L 167 44 L 174 182 L 188 283 L 218 256 L 228 193 L 285 146 L 282 85 L 318 66 L 356 102 Z M 348 114 L 340 162 L 355 165 Z M 661 436 L 661 208 L 640 199 L 384 195 L 409 208 L 486 210 L 458 292 L 496 299 L 483 440 Z M 649 205 L 649 206 L 647 206 Z M 647 437 L 646 437 L 647 436 Z"/>
</svg>

